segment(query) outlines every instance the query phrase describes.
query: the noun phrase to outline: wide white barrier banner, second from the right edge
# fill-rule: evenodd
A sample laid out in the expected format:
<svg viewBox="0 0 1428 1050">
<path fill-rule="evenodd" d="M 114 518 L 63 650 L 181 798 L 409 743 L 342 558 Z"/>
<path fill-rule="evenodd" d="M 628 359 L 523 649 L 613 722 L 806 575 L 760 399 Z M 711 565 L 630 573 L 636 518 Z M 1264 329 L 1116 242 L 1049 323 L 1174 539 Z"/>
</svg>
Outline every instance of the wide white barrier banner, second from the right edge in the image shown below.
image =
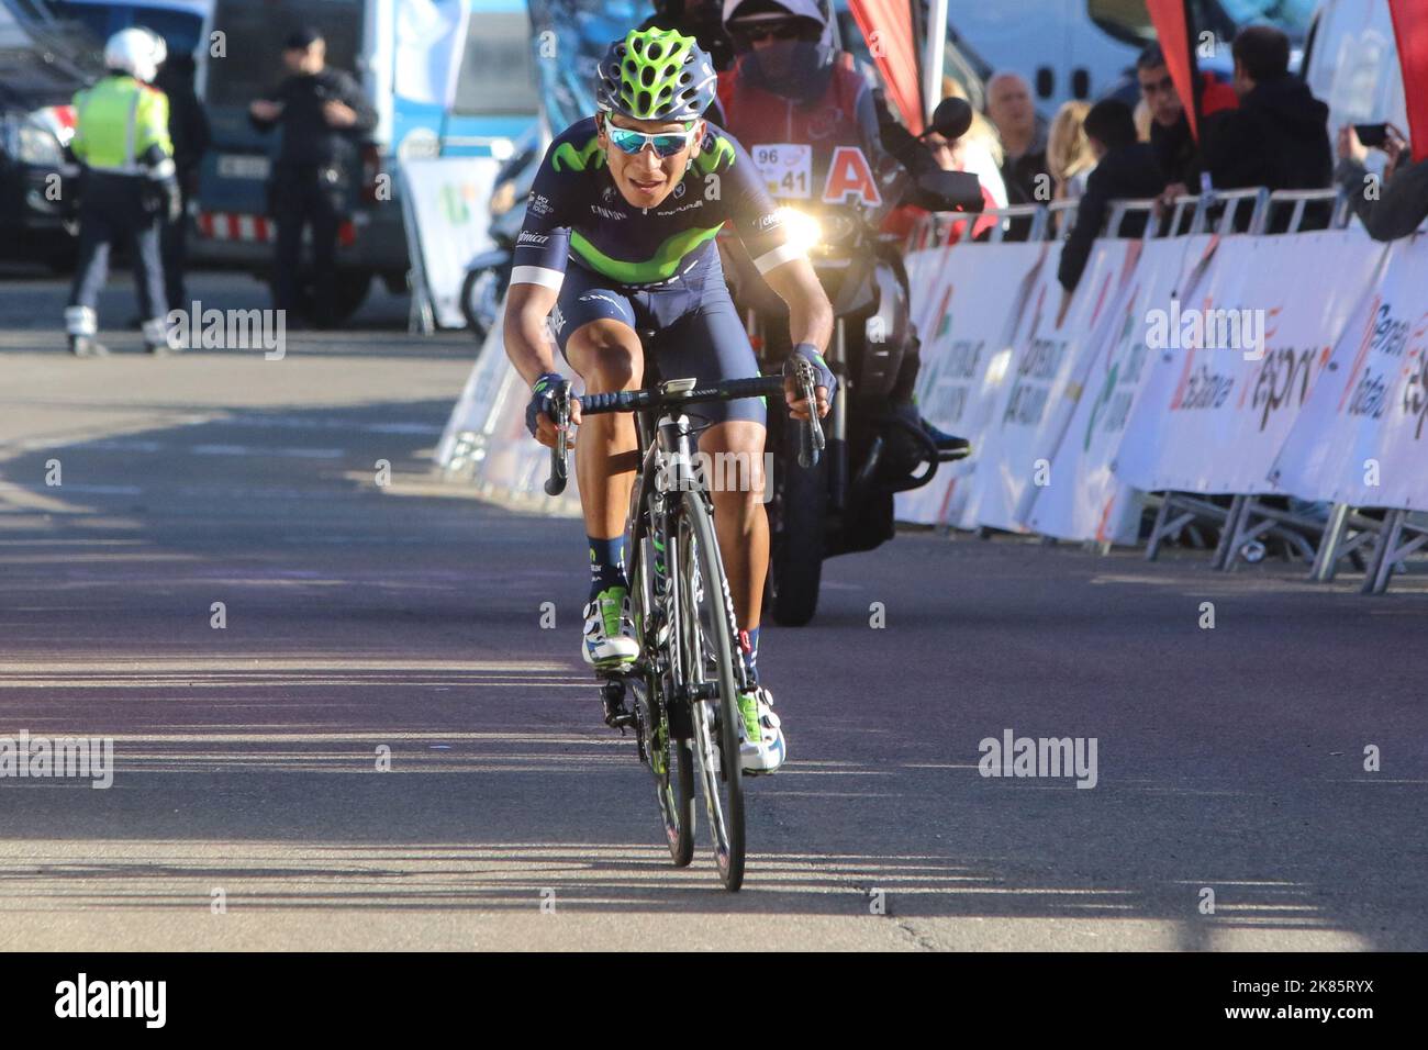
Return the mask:
<svg viewBox="0 0 1428 1050">
<path fill-rule="evenodd" d="M 1145 317 L 1152 374 L 1117 454 L 1145 491 L 1269 494 L 1274 459 L 1384 246 L 1362 230 L 1230 237 Z"/>
</svg>

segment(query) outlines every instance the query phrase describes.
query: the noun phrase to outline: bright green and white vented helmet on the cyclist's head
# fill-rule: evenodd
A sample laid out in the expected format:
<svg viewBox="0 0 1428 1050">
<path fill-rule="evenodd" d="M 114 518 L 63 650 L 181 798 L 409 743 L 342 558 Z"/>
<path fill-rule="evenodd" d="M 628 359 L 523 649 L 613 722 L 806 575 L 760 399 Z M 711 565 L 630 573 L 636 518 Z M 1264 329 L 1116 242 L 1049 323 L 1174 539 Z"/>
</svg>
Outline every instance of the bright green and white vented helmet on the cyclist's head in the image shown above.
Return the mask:
<svg viewBox="0 0 1428 1050">
<path fill-rule="evenodd" d="M 631 120 L 697 120 L 714 101 L 714 63 L 694 37 L 633 29 L 600 63 L 595 103 Z"/>
</svg>

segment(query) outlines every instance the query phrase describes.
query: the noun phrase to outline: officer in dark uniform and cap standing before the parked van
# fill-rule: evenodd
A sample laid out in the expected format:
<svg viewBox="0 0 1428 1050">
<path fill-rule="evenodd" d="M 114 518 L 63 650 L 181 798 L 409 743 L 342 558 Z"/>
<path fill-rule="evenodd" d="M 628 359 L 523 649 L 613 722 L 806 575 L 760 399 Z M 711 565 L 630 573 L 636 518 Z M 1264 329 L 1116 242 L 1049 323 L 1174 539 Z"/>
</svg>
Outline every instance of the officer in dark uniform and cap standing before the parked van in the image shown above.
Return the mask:
<svg viewBox="0 0 1428 1050">
<path fill-rule="evenodd" d="M 260 130 L 283 124 L 271 181 L 271 211 L 277 220 L 274 304 L 290 314 L 298 309 L 303 227 L 310 224 L 316 274 L 313 320 L 326 327 L 333 320 L 337 227 L 347 210 L 357 141 L 377 126 L 377 113 L 350 74 L 327 67 L 327 44 L 317 30 L 293 33 L 283 49 L 283 63 L 293 76 L 270 99 L 248 106 L 248 116 Z"/>
</svg>

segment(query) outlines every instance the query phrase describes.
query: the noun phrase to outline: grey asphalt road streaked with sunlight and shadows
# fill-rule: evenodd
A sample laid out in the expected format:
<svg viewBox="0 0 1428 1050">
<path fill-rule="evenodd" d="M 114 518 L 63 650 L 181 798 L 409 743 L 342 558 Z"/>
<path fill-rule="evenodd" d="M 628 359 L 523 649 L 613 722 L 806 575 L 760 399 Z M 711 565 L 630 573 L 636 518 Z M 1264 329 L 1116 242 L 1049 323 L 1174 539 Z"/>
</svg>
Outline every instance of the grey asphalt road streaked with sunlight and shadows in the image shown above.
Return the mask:
<svg viewBox="0 0 1428 1050">
<path fill-rule="evenodd" d="M 1428 949 L 1422 574 L 835 560 L 764 633 L 791 759 L 731 896 L 600 721 L 578 523 L 430 474 L 464 337 L 384 297 L 281 361 L 76 361 L 63 304 L 0 274 L 0 737 L 111 737 L 113 786 L 0 777 L 0 949 Z M 981 776 L 1007 730 L 1095 786 Z"/>
</svg>

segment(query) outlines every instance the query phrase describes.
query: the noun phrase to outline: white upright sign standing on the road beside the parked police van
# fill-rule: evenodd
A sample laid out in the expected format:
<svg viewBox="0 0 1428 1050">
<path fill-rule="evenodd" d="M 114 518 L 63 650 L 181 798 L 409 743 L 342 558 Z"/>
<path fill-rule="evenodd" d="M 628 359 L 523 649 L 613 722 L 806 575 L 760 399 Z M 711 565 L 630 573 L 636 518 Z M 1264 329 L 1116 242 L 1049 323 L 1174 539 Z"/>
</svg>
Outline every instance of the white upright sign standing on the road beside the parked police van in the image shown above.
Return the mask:
<svg viewBox="0 0 1428 1050">
<path fill-rule="evenodd" d="M 403 213 L 408 226 L 416 224 L 420 251 L 416 269 L 443 329 L 466 327 L 466 264 L 494 246 L 490 201 L 498 167 L 493 157 L 401 160 Z M 410 244 L 413 230 L 407 233 Z"/>
</svg>

